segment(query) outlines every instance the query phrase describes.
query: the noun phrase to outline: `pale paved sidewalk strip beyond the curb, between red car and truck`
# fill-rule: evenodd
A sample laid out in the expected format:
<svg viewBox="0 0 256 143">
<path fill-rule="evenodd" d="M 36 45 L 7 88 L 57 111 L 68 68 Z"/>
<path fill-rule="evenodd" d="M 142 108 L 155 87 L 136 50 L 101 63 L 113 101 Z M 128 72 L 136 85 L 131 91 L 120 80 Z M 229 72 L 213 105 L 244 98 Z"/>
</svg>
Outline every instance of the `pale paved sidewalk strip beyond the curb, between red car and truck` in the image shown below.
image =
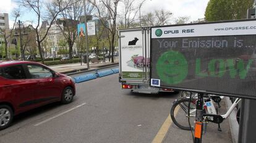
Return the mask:
<svg viewBox="0 0 256 143">
<path fill-rule="evenodd" d="M 118 65 L 119 60 L 116 59 L 114 60 L 114 63 L 109 62 L 106 60 L 106 62 L 100 62 L 100 63 L 89 63 L 89 70 L 96 70 L 98 68 L 102 67 L 109 67 L 111 65 Z M 51 69 L 54 71 L 57 71 L 59 73 L 76 73 L 79 71 L 86 71 L 88 70 L 87 68 L 87 63 L 69 63 L 69 64 L 62 64 L 62 65 L 51 65 L 49 66 Z"/>
</svg>

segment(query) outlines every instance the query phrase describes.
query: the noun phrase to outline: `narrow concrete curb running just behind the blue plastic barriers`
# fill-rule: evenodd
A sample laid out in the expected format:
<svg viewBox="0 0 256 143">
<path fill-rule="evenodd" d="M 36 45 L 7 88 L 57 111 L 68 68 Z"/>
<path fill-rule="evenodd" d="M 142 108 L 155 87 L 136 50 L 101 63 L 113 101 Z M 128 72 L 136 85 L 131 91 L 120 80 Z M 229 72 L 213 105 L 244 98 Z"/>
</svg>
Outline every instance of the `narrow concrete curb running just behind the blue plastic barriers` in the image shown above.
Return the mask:
<svg viewBox="0 0 256 143">
<path fill-rule="evenodd" d="M 86 72 L 94 71 L 94 70 L 101 70 L 101 69 L 109 68 L 109 67 L 116 67 L 116 65 L 119 65 L 119 63 L 110 63 L 108 65 L 99 65 L 99 66 L 96 66 L 95 68 L 89 69 L 89 70 L 88 70 L 88 68 L 82 68 L 80 70 L 62 71 L 59 73 L 62 73 L 65 75 L 75 75 L 75 74 L 86 73 Z"/>
</svg>

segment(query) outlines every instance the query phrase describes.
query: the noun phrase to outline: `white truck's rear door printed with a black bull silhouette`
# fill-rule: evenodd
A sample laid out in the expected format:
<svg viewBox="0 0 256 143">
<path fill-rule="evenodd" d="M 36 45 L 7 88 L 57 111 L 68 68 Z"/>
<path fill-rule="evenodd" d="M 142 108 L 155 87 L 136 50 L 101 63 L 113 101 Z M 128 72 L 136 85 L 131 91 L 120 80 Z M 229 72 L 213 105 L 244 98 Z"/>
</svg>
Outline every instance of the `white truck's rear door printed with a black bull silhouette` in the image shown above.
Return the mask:
<svg viewBox="0 0 256 143">
<path fill-rule="evenodd" d="M 149 50 L 147 30 L 134 28 L 119 30 L 120 81 L 148 82 Z"/>
</svg>

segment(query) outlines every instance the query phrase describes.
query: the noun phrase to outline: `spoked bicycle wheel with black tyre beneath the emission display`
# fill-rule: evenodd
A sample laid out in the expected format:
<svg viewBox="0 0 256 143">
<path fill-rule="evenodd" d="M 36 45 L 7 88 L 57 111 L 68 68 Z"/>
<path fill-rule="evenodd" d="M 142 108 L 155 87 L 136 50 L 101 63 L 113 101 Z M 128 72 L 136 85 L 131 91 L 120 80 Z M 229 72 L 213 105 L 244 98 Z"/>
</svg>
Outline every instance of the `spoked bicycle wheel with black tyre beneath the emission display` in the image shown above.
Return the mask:
<svg viewBox="0 0 256 143">
<path fill-rule="evenodd" d="M 171 107 L 171 119 L 173 123 L 181 129 L 190 130 L 194 126 L 196 99 L 190 102 L 190 115 L 188 116 L 189 99 L 179 99 Z"/>
</svg>

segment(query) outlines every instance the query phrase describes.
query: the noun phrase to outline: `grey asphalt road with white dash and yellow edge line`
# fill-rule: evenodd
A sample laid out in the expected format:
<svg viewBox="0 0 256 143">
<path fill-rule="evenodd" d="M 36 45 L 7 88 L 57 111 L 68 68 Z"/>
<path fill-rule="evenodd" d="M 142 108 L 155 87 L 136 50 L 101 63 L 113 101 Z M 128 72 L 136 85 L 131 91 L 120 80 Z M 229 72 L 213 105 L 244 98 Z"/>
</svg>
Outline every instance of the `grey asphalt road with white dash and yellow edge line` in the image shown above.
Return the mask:
<svg viewBox="0 0 256 143">
<path fill-rule="evenodd" d="M 118 74 L 105 76 L 77 84 L 70 104 L 50 104 L 15 116 L 14 124 L 0 131 L 0 142 L 192 142 L 189 131 L 168 119 L 177 97 L 134 94 L 121 89 Z M 227 121 L 223 133 L 216 125 L 210 127 L 206 142 L 231 142 Z"/>
</svg>

